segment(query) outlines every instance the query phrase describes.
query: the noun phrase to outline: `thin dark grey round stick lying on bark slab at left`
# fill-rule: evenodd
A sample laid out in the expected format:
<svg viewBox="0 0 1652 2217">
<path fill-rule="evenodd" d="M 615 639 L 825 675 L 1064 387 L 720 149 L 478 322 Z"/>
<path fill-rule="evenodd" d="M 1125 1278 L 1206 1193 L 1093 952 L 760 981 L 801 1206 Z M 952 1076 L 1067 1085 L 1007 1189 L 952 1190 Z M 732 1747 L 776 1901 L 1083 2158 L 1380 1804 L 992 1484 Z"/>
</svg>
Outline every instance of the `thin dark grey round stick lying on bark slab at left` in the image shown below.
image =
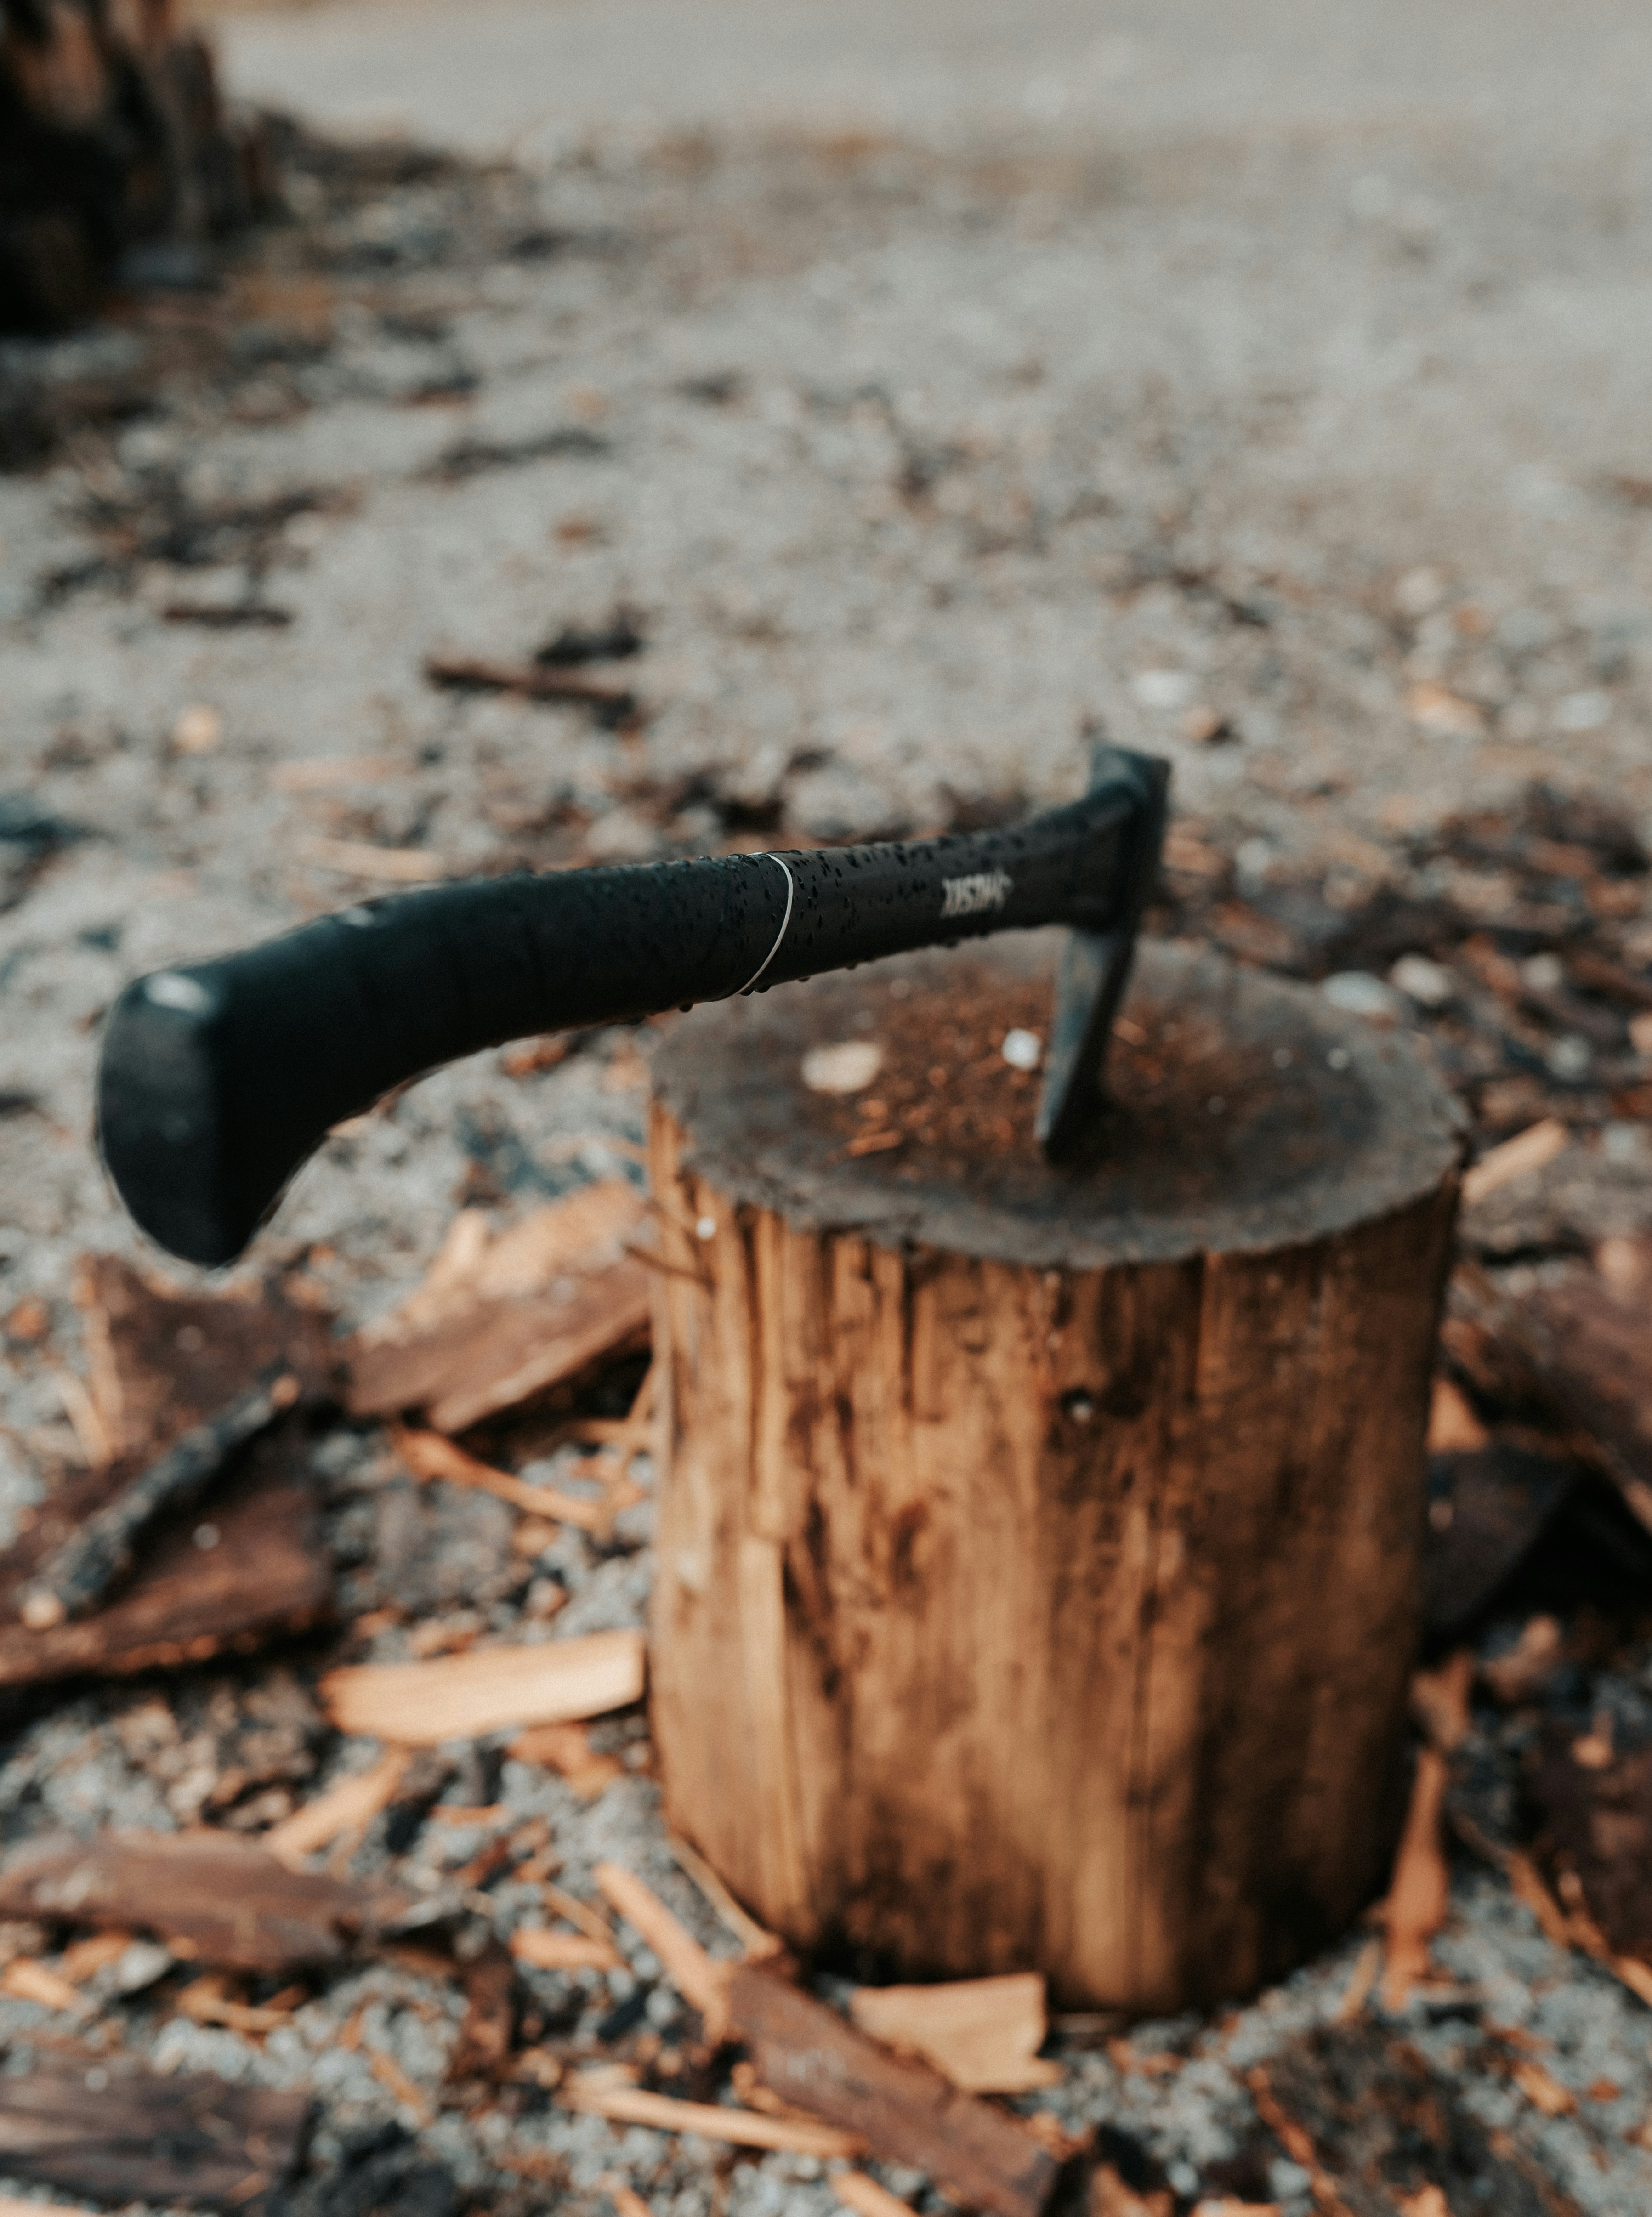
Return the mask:
<svg viewBox="0 0 1652 2217">
<path fill-rule="evenodd" d="M 277 1361 L 215 1417 L 175 1439 L 42 1563 L 22 1590 L 24 1625 L 51 1632 L 95 1610 L 129 1576 L 137 1543 L 155 1519 L 200 1501 L 231 1454 L 275 1423 L 297 1397 L 299 1381 Z"/>
</svg>

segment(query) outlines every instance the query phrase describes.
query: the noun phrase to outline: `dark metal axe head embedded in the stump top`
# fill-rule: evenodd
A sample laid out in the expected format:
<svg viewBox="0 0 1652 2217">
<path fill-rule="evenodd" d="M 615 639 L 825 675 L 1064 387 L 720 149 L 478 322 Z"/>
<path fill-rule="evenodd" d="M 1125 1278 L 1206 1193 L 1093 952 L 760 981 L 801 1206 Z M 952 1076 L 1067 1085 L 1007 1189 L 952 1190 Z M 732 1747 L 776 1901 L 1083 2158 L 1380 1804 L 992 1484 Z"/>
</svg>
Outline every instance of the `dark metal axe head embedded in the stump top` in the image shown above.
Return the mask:
<svg viewBox="0 0 1652 2217">
<path fill-rule="evenodd" d="M 1133 791 L 1133 807 L 1115 834 L 1118 845 L 1107 842 L 1095 854 L 1095 929 L 1069 931 L 1056 973 L 1036 1126 L 1049 1162 L 1071 1162 L 1095 1131 L 1113 1018 L 1129 984 L 1142 909 L 1164 847 L 1171 765 L 1151 754 L 1098 745 L 1091 756 L 1091 794 L 1118 791 L 1120 783 Z M 1080 907 L 1089 891 L 1082 882 L 1075 887 Z"/>
</svg>

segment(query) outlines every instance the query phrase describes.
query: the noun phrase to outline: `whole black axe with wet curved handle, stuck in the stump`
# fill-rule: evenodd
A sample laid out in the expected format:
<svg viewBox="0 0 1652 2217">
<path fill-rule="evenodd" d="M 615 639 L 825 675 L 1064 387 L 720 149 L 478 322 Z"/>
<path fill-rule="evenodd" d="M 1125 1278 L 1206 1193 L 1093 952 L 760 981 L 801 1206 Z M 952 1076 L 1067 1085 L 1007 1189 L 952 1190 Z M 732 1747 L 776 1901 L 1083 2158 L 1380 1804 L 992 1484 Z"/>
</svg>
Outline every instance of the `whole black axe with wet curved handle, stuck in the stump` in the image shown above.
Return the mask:
<svg viewBox="0 0 1652 2217">
<path fill-rule="evenodd" d="M 472 878 L 153 971 L 104 1029 L 104 1164 L 151 1239 L 226 1264 L 337 1122 L 457 1055 L 1036 924 L 1069 927 L 1038 1108 L 1040 1146 L 1069 1162 L 1166 791 L 1166 763 L 1098 747 L 1082 800 L 1013 829 Z"/>
</svg>

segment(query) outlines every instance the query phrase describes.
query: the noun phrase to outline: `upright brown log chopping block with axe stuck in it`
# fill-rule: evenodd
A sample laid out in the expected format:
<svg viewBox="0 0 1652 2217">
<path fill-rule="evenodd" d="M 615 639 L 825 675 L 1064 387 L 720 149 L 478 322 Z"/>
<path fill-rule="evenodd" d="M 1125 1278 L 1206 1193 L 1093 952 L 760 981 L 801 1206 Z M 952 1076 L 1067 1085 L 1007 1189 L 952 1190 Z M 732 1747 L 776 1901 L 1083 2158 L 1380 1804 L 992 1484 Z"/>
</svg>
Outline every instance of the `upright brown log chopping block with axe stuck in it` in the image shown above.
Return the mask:
<svg viewBox="0 0 1652 2217">
<path fill-rule="evenodd" d="M 654 1731 L 796 1949 L 1169 2011 L 1386 1869 L 1459 1140 L 1404 1038 L 1146 944 L 1051 1171 L 1000 1051 L 1051 975 L 978 942 L 659 1051 Z"/>
</svg>

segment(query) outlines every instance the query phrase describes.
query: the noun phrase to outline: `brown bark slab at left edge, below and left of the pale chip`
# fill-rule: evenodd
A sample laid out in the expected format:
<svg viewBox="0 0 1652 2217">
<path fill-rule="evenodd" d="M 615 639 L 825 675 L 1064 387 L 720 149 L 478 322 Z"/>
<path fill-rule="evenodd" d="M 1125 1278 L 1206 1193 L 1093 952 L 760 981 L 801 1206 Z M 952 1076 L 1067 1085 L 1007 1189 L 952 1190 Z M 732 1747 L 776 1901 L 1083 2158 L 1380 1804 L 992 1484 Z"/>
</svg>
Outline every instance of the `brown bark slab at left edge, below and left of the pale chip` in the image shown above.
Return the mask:
<svg viewBox="0 0 1652 2217">
<path fill-rule="evenodd" d="M 175 1955 L 231 1971 L 341 1962 L 408 1900 L 288 1871 L 231 1831 L 49 1833 L 0 1869 L 0 1915 L 155 1933 Z"/>
</svg>

